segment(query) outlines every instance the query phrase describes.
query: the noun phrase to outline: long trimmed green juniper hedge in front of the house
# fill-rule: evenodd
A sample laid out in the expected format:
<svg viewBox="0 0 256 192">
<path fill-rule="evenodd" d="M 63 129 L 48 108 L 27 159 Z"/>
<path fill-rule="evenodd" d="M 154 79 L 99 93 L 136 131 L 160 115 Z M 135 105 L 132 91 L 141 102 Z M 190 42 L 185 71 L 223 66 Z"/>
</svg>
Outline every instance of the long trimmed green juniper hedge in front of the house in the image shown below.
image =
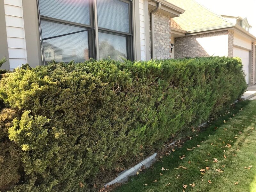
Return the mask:
<svg viewBox="0 0 256 192">
<path fill-rule="evenodd" d="M 8 156 L 18 168 L 0 190 L 93 191 L 104 171 L 217 116 L 245 88 L 241 61 L 225 57 L 16 69 L 0 82 L 0 99 L 15 112 L 0 139 L 19 151 Z"/>
</svg>

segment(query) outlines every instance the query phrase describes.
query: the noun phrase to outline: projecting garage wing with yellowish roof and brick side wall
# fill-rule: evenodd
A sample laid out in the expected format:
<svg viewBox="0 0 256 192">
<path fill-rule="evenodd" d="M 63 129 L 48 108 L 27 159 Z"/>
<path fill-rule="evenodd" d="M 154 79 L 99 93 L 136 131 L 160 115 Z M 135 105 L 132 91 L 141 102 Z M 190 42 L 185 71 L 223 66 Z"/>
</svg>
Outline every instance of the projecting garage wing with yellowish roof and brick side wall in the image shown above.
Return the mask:
<svg viewBox="0 0 256 192">
<path fill-rule="evenodd" d="M 255 84 L 256 37 L 247 18 L 218 15 L 194 0 L 170 1 L 186 10 L 171 21 L 174 58 L 240 57 L 247 84 Z"/>
</svg>

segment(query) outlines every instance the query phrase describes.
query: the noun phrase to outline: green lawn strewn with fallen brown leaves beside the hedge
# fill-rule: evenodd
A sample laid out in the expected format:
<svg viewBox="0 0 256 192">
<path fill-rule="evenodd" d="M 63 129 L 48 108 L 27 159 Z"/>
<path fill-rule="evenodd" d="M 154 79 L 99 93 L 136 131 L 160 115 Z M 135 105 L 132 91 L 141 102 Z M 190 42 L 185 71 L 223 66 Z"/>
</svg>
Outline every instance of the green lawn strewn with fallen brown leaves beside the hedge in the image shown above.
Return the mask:
<svg viewBox="0 0 256 192">
<path fill-rule="evenodd" d="M 234 110 L 218 118 L 204 131 L 194 132 L 197 136 L 186 141 L 182 148 L 177 148 L 170 156 L 159 159 L 162 161 L 158 160 L 152 168 L 132 177 L 114 191 L 256 192 L 255 129 L 256 100 L 240 102 Z M 230 148 L 227 147 L 229 146 L 227 143 L 231 145 Z M 187 150 L 192 147 L 196 148 L 192 151 Z M 179 157 L 182 155 L 186 157 L 181 160 Z M 218 159 L 218 162 L 213 162 L 213 158 Z M 180 165 L 188 170 L 175 169 Z M 251 165 L 252 167 L 248 169 Z M 210 169 L 206 170 L 206 166 Z M 168 170 L 162 171 L 162 167 Z M 205 169 L 205 173 L 201 174 L 200 169 Z M 216 169 L 220 169 L 220 172 Z M 153 182 L 155 180 L 157 181 Z M 236 182 L 238 184 L 235 185 Z M 190 186 L 193 183 L 194 188 Z M 187 185 L 187 188 L 185 189 L 183 185 Z"/>
</svg>

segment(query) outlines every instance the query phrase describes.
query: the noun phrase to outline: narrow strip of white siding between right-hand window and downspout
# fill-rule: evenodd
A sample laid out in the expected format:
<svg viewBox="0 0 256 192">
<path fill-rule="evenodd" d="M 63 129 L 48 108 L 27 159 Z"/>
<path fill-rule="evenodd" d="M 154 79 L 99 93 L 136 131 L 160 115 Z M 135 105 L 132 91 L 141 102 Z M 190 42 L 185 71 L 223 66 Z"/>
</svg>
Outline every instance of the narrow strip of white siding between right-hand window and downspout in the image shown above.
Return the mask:
<svg viewBox="0 0 256 192">
<path fill-rule="evenodd" d="M 139 0 L 140 3 L 140 57 L 141 60 L 146 60 L 146 36 L 145 36 L 145 11 L 144 0 Z"/>
</svg>

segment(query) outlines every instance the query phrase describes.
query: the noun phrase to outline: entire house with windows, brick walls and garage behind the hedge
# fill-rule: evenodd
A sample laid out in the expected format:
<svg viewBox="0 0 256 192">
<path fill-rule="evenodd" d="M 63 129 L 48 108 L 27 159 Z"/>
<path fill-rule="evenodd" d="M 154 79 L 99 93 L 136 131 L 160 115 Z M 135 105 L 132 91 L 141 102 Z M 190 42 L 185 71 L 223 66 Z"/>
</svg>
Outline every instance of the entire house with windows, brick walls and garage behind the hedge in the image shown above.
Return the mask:
<svg viewBox="0 0 256 192">
<path fill-rule="evenodd" d="M 52 58 L 225 55 L 241 56 L 248 83 L 255 82 L 255 37 L 247 19 L 216 15 L 193 0 L 0 0 L 0 18 L 5 69 L 45 65 Z"/>
</svg>

